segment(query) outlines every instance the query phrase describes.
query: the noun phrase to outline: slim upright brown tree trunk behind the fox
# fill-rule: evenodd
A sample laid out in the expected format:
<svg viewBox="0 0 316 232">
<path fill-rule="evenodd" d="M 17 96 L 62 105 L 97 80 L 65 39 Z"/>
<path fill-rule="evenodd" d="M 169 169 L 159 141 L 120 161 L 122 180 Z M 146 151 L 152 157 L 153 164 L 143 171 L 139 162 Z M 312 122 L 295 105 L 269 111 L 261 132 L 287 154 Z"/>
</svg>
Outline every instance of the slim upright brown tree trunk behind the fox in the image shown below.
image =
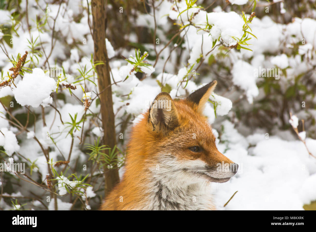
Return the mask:
<svg viewBox="0 0 316 232">
<path fill-rule="evenodd" d="M 97 65 L 96 71 L 99 84 L 99 98 L 101 105 L 101 118 L 104 130 L 104 144 L 113 148 L 116 144 L 114 113 L 112 102 L 112 88 L 110 67 L 106 51 L 106 0 L 92 0 L 93 16 L 93 40 L 94 40 L 94 61 L 102 61 L 104 64 Z M 111 191 L 114 184 L 119 182 L 119 172 L 114 169 L 104 169 L 105 196 Z"/>
</svg>

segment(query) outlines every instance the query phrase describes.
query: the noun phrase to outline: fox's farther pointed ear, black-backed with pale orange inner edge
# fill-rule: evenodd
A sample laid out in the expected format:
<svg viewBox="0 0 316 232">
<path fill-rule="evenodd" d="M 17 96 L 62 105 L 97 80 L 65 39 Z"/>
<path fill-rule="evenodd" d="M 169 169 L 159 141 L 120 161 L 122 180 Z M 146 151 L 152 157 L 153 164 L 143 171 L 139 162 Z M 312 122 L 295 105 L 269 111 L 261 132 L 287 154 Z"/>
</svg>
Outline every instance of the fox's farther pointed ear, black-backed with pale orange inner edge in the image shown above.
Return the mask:
<svg viewBox="0 0 316 232">
<path fill-rule="evenodd" d="M 205 103 L 209 100 L 210 95 L 215 89 L 217 84 L 216 80 L 213 80 L 209 84 L 199 88 L 198 90 L 192 92 L 186 99 L 188 101 L 194 102 L 197 104 L 197 111 L 202 113 L 205 107 Z"/>
</svg>

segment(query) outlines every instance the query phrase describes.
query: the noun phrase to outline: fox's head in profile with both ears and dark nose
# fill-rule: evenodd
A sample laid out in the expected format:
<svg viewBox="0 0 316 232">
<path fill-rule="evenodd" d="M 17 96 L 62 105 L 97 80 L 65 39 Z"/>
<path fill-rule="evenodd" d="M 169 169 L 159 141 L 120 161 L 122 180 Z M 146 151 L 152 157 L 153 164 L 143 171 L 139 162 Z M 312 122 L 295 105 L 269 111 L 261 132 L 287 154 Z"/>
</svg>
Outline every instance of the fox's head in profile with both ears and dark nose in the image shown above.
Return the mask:
<svg viewBox="0 0 316 232">
<path fill-rule="evenodd" d="M 143 166 L 161 181 L 226 182 L 237 172 L 238 165 L 217 150 L 212 128 L 202 114 L 216 84 L 214 80 L 181 100 L 159 93 L 134 129 L 130 145 L 146 160 Z M 140 160 L 138 156 L 131 162 Z"/>
</svg>

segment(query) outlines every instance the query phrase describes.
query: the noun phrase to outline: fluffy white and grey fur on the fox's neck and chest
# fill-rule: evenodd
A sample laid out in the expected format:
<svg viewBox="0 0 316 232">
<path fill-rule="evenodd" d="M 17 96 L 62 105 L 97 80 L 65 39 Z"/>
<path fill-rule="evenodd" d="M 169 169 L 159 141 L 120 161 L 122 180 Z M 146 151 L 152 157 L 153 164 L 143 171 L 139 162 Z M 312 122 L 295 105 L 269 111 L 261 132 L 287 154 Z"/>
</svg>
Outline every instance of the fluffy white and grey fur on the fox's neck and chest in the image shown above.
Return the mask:
<svg viewBox="0 0 316 232">
<path fill-rule="evenodd" d="M 206 210 L 212 206 L 210 184 L 207 181 L 188 181 L 183 172 L 176 171 L 173 158 L 163 157 L 161 165 L 146 168 L 147 199 L 144 209 L 149 210 Z"/>
</svg>

